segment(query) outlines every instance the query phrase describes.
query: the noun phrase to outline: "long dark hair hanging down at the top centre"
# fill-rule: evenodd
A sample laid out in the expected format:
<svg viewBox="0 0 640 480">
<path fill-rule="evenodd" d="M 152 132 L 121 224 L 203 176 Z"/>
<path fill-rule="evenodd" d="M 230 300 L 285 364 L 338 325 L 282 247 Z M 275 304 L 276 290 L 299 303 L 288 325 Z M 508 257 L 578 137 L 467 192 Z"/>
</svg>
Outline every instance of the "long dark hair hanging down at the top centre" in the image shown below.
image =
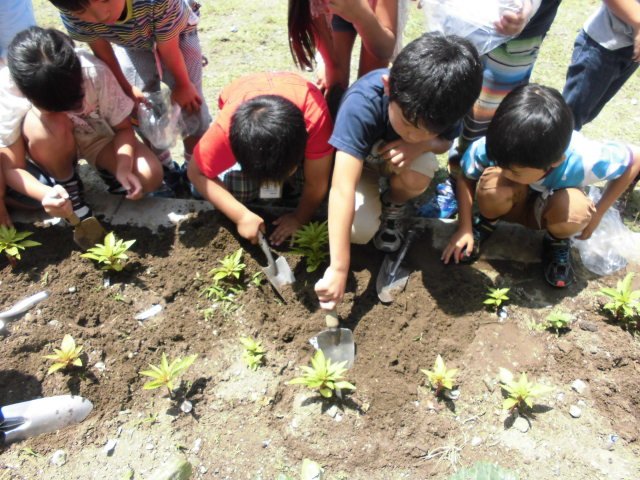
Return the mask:
<svg viewBox="0 0 640 480">
<path fill-rule="evenodd" d="M 315 65 L 316 41 L 309 0 L 289 0 L 287 25 L 289 50 L 294 63 L 301 69 L 312 70 Z"/>
</svg>

